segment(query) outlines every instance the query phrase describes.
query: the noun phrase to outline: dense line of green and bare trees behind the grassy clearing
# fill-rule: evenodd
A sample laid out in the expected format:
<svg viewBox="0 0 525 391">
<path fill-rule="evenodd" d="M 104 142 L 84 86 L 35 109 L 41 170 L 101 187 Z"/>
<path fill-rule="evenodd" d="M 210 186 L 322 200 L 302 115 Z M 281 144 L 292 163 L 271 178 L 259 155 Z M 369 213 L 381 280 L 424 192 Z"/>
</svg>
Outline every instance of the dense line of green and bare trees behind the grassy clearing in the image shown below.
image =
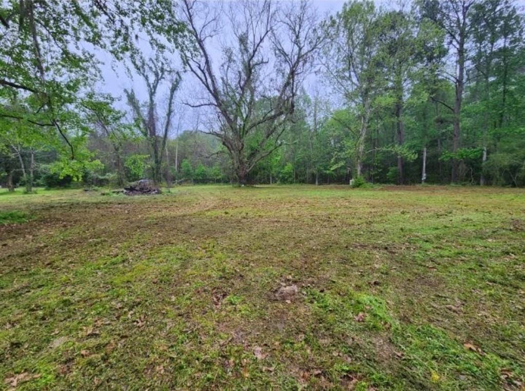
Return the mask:
<svg viewBox="0 0 525 391">
<path fill-rule="evenodd" d="M 524 17 L 512 0 L 6 1 L 0 184 L 525 186 Z M 133 87 L 101 89 L 109 68 Z"/>
</svg>

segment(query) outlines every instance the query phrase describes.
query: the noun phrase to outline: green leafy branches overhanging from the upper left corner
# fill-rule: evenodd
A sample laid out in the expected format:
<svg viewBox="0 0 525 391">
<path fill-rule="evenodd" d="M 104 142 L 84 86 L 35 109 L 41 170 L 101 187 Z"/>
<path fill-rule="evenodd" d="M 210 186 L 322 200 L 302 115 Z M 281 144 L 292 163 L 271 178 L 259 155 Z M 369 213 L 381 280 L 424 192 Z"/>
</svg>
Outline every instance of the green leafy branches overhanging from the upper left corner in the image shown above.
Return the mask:
<svg viewBox="0 0 525 391">
<path fill-rule="evenodd" d="M 70 111 L 101 78 L 96 50 L 114 60 L 136 57 L 139 32 L 156 52 L 169 48 L 157 38 L 162 31 L 177 37 L 184 25 L 170 1 L 77 2 L 8 0 L 0 5 L 0 117 L 22 121 L 64 139 L 72 167 L 80 157 L 71 142 L 77 129 Z M 176 38 L 174 38 L 176 41 Z M 12 101 L 25 110 L 10 110 Z M 76 110 L 76 109 L 75 109 Z M 69 122 L 72 120 L 72 122 Z M 77 138 L 77 142 L 78 142 Z M 82 145 L 78 145 L 83 148 Z M 62 165 L 67 163 L 62 159 Z"/>
</svg>

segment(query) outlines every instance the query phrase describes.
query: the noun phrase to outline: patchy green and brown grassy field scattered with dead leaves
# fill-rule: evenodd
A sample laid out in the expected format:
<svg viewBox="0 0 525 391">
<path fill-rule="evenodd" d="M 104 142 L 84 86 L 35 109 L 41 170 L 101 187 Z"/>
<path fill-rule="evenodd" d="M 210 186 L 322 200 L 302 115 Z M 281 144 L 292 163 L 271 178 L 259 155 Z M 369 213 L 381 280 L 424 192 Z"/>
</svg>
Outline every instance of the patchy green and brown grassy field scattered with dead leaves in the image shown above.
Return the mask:
<svg viewBox="0 0 525 391">
<path fill-rule="evenodd" d="M 0 193 L 0 389 L 523 390 L 524 374 L 523 190 Z"/>
</svg>

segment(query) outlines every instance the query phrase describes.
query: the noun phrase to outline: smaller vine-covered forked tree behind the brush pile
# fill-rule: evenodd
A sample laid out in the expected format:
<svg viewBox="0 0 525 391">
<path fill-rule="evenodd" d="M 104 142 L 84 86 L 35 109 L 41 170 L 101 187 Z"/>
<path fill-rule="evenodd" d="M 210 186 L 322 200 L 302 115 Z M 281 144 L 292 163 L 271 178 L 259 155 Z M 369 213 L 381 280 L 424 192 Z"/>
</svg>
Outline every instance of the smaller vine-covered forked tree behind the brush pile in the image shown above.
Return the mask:
<svg viewBox="0 0 525 391">
<path fill-rule="evenodd" d="M 153 154 L 153 181 L 160 183 L 162 181 L 162 161 L 173 116 L 175 92 L 180 85 L 181 75 L 179 72 L 166 67 L 159 59 L 146 61 L 140 58 L 134 61 L 134 66 L 146 84 L 148 101 L 141 104 L 133 89 L 124 92 L 133 111 L 135 121 L 137 121 L 142 135 L 148 140 Z M 156 99 L 161 84 L 166 81 L 169 83 L 169 96 L 167 97 L 164 121 L 161 123 L 156 111 Z"/>
</svg>

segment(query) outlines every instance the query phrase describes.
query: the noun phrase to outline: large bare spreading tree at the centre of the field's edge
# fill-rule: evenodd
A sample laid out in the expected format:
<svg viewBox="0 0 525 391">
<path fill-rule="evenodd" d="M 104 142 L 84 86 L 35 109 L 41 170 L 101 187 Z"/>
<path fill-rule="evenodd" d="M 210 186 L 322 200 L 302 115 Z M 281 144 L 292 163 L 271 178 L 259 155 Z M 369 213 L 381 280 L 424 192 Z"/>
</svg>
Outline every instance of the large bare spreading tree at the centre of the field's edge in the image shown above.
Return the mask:
<svg viewBox="0 0 525 391">
<path fill-rule="evenodd" d="M 269 0 L 184 0 L 182 8 L 194 42 L 182 60 L 204 89 L 187 104 L 211 108 L 218 126 L 206 133 L 220 139 L 244 184 L 257 162 L 281 145 L 299 85 L 323 41 L 316 16 L 304 1 L 285 8 Z M 210 48 L 223 31 L 234 39 L 223 42 L 223 63 L 215 68 Z"/>
</svg>

